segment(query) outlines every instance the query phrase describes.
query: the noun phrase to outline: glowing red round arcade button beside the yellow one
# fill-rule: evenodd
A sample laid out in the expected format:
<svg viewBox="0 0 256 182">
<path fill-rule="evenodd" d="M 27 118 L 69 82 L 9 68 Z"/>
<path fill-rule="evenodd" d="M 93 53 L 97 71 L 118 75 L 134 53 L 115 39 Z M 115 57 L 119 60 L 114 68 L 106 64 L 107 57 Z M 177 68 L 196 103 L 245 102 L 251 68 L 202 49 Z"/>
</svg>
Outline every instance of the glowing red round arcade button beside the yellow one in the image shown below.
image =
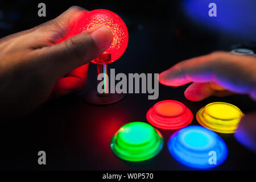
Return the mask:
<svg viewBox="0 0 256 182">
<path fill-rule="evenodd" d="M 191 111 L 179 101 L 160 101 L 147 111 L 147 121 L 159 129 L 181 129 L 189 125 L 192 119 Z"/>
</svg>

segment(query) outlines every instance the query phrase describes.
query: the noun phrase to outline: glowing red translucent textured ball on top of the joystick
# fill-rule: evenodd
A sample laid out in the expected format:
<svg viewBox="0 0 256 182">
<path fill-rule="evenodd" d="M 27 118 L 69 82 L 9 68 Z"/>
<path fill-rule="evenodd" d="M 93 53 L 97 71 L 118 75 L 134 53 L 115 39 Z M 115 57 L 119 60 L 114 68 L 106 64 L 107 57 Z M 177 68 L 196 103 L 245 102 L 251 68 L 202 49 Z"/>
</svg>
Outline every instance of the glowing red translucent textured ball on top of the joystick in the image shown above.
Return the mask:
<svg viewBox="0 0 256 182">
<path fill-rule="evenodd" d="M 122 56 L 128 44 L 128 31 L 125 22 L 117 14 L 109 10 L 89 11 L 77 22 L 75 35 L 97 26 L 108 27 L 112 31 L 113 42 L 102 55 L 92 60 L 92 63 L 112 63 Z"/>
</svg>

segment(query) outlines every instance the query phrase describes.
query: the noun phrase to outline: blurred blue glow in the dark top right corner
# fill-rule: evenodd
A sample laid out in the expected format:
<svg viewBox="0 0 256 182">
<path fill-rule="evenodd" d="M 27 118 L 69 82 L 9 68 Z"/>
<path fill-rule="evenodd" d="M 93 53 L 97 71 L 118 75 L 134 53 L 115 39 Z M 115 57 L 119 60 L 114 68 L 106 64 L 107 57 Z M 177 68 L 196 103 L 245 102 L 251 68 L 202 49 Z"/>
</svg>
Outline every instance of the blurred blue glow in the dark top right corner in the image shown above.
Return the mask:
<svg viewBox="0 0 256 182">
<path fill-rule="evenodd" d="M 210 17 L 209 3 L 216 3 L 217 16 Z M 255 0 L 183 0 L 184 14 L 201 27 L 254 40 L 256 38 Z M 228 35 L 227 34 L 227 35 Z"/>
</svg>

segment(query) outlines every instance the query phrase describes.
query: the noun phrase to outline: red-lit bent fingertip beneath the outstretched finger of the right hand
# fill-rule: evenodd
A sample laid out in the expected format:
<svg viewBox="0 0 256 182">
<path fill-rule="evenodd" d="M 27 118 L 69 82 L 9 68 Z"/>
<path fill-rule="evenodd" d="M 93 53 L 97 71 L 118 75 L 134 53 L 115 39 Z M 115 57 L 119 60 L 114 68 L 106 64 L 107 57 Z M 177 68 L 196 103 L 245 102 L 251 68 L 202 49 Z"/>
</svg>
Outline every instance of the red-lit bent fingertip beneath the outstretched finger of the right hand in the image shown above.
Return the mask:
<svg viewBox="0 0 256 182">
<path fill-rule="evenodd" d="M 189 85 L 184 95 L 190 101 L 201 101 L 216 93 L 216 90 L 209 83 L 196 83 Z"/>
</svg>

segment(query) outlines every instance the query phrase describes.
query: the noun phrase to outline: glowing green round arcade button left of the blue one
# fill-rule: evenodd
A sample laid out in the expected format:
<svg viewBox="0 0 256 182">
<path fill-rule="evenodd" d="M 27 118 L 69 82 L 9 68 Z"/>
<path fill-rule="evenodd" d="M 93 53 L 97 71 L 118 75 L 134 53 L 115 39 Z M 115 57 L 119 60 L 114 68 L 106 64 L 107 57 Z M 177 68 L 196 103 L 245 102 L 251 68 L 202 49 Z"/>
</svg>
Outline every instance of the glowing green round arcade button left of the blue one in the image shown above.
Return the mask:
<svg viewBox="0 0 256 182">
<path fill-rule="evenodd" d="M 119 158 L 137 162 L 157 155 L 163 148 L 163 137 L 147 123 L 131 122 L 114 134 L 110 147 Z"/>
</svg>

